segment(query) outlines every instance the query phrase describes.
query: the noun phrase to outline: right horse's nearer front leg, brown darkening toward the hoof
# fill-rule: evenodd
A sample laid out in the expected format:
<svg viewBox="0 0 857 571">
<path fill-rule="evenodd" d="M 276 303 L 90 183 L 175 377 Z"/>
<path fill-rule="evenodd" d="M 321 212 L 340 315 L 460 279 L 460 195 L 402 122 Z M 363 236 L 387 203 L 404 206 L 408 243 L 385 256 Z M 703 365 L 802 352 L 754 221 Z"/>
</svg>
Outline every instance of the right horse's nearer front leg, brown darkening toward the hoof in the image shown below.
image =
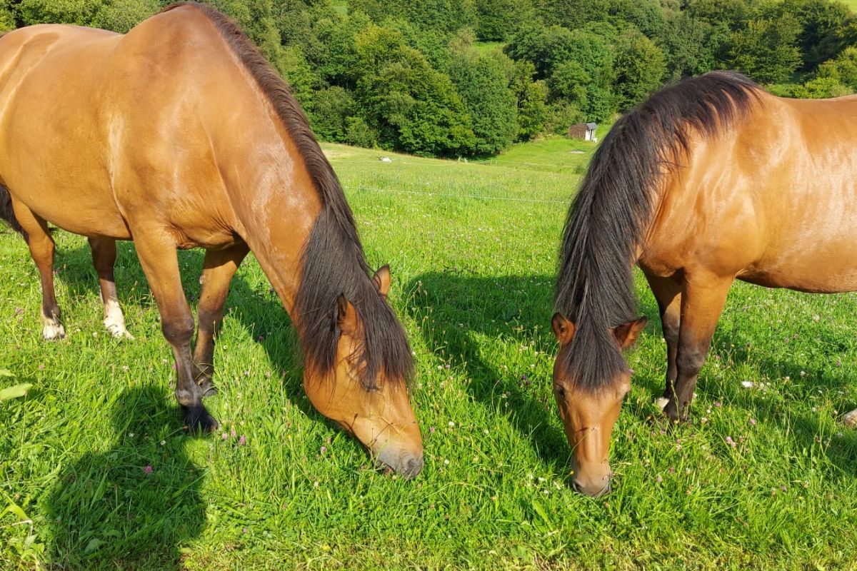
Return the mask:
<svg viewBox="0 0 857 571">
<path fill-rule="evenodd" d="M 673 394 L 663 409 L 673 421 L 687 419 L 699 371 L 708 355 L 732 281 L 731 277 L 686 276 L 681 292 L 679 343 L 675 356 L 677 375 Z"/>
</svg>

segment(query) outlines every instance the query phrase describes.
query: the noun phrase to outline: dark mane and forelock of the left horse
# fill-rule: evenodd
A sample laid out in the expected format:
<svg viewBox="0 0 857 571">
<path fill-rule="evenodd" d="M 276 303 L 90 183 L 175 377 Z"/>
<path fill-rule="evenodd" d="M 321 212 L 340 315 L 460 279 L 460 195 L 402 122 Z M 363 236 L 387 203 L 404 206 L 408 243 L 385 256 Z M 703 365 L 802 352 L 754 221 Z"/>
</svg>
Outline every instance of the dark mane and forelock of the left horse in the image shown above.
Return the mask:
<svg viewBox="0 0 857 571">
<path fill-rule="evenodd" d="M 193 2 L 171 4 L 164 11 L 181 6 L 192 6 L 205 14 L 253 76 L 291 135 L 321 197 L 321 214 L 303 247 L 301 284 L 295 299 L 296 325 L 307 366 L 322 377 L 333 373 L 340 334 L 339 296 L 345 295 L 363 324 L 363 346 L 353 355 L 363 387 L 378 388 L 379 372 L 389 379 L 411 378 L 413 360 L 405 331 L 369 278 L 369 266 L 339 179 L 289 87 L 230 18 Z"/>
</svg>

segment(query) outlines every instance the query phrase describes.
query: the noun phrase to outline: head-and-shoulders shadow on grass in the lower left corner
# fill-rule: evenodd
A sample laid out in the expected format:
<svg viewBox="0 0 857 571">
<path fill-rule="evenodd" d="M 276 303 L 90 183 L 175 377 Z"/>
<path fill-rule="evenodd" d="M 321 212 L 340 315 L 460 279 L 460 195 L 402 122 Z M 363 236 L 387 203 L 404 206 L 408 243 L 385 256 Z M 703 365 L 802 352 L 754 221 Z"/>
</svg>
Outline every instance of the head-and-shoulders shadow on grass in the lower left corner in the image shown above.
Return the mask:
<svg viewBox="0 0 857 571">
<path fill-rule="evenodd" d="M 187 440 L 157 440 L 174 432 L 175 407 L 166 407 L 153 385 L 125 390 L 112 407 L 111 448 L 64 466 L 48 496 L 51 562 L 182 569 L 180 549 L 205 526 L 205 504 L 203 473 L 184 453 Z"/>
</svg>

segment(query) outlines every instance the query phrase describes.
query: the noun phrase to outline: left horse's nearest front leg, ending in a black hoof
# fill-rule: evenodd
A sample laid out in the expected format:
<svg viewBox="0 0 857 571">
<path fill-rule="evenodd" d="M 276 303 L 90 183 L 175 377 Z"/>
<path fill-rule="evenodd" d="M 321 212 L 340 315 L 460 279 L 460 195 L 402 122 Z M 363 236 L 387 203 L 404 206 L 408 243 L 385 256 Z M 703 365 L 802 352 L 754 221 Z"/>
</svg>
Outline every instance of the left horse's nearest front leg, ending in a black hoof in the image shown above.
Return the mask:
<svg viewBox="0 0 857 571">
<path fill-rule="evenodd" d="M 150 227 L 134 237 L 140 265 L 158 302 L 161 330 L 176 360 L 176 400 L 183 407 L 184 422 L 190 431 L 213 431 L 218 422 L 202 405 L 202 390 L 194 380 L 190 358 L 194 316 L 182 290 L 176 243 L 168 231 Z"/>
</svg>

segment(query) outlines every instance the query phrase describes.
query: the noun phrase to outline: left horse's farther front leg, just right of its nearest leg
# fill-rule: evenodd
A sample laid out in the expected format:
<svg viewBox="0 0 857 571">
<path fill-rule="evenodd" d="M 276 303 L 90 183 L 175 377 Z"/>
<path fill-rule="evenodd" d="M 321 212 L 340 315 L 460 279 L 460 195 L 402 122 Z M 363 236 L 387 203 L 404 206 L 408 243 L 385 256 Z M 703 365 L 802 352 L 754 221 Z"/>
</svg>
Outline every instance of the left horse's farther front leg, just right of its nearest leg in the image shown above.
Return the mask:
<svg viewBox="0 0 857 571">
<path fill-rule="evenodd" d="M 217 393 L 212 383 L 214 375 L 214 339 L 223 320 L 223 306 L 232 276 L 249 252 L 247 244 L 241 242 L 223 250 L 206 250 L 206 259 L 202 269 L 202 291 L 200 303 L 196 308 L 199 328 L 196 331 L 194 364 L 196 383 L 200 385 L 203 396 Z"/>
</svg>

